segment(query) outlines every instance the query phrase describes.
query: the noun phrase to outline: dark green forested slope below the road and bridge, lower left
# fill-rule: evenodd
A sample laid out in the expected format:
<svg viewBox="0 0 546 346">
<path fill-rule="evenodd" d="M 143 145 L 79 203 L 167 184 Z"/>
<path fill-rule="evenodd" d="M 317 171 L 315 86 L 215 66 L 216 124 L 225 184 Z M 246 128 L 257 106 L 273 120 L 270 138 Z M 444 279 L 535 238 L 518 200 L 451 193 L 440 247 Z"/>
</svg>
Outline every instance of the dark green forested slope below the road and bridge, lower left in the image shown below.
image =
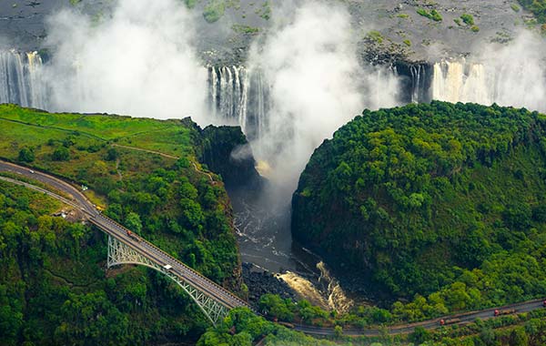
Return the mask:
<svg viewBox="0 0 546 346">
<path fill-rule="evenodd" d="M 162 275 L 144 268 L 105 273 L 106 237 L 51 216 L 60 209 L 43 194 L 0 182 L 3 345 L 184 341 L 207 328 Z"/>
</svg>

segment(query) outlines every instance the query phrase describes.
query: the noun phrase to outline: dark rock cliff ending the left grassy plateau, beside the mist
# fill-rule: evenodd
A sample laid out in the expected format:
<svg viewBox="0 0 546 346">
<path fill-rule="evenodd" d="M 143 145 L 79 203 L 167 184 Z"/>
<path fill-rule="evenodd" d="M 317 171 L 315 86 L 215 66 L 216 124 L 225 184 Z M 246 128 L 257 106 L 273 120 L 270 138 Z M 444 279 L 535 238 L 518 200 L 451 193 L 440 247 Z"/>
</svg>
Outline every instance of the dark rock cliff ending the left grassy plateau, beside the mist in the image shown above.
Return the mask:
<svg viewBox="0 0 546 346">
<path fill-rule="evenodd" d="M 259 188 L 261 178 L 247 137 L 240 127 L 206 127 L 201 161 L 219 174 L 227 189 Z"/>
</svg>

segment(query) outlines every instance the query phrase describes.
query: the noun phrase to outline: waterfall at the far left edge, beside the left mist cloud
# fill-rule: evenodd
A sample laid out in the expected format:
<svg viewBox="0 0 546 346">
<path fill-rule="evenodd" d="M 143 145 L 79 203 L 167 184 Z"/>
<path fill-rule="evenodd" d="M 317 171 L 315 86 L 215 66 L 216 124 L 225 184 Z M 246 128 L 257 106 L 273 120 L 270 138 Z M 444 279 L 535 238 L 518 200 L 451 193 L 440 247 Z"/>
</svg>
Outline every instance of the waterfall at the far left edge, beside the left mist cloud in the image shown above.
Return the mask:
<svg viewBox="0 0 546 346">
<path fill-rule="evenodd" d="M 0 103 L 45 108 L 42 58 L 37 52 L 0 51 Z"/>
</svg>

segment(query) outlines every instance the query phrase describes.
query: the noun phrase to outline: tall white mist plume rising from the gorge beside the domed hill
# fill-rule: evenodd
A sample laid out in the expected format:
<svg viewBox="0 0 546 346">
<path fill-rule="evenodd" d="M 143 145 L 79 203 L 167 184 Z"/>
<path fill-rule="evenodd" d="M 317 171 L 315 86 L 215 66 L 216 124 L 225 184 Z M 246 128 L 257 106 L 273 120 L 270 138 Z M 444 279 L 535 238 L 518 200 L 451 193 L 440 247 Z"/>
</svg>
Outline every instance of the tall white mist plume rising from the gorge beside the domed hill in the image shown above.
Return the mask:
<svg viewBox="0 0 546 346">
<path fill-rule="evenodd" d="M 364 107 L 396 103 L 389 73 L 359 66 L 344 7 L 310 1 L 294 6 L 288 2 L 276 10 L 278 22 L 250 57 L 268 81 L 271 102 L 266 133 L 252 145 L 258 160 L 271 166 L 270 178 L 288 190 L 337 128 Z M 377 85 L 381 81 L 384 87 Z"/>
</svg>

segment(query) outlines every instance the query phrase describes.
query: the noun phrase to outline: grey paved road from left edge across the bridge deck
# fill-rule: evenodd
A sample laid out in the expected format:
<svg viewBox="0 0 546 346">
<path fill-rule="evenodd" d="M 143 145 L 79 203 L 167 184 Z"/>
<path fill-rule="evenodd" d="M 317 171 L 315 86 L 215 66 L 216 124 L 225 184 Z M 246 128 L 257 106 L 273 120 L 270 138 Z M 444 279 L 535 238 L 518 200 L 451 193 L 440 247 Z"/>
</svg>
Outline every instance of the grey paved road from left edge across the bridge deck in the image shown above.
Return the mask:
<svg viewBox="0 0 546 346">
<path fill-rule="evenodd" d="M 209 297 L 217 300 L 222 305 L 226 306 L 228 309 L 237 308 L 240 306 L 245 306 L 250 308 L 248 303 L 245 300 L 241 300 L 235 294 L 224 289 L 216 282 L 208 280 L 206 277 L 199 274 L 196 270 L 193 270 L 179 260 L 173 258 L 166 252 L 161 249 L 158 249 L 156 246 L 151 244 L 145 239 L 140 238 L 139 240 L 133 239 L 127 235 L 127 230 L 125 227 L 116 223 L 112 219 L 106 218 L 104 215 L 100 214 L 93 203 L 91 203 L 84 194 L 82 194 L 78 188 L 68 184 L 66 181 L 52 177 L 45 173 L 17 166 L 5 161 L 0 160 L 0 171 L 11 172 L 18 175 L 21 175 L 25 178 L 32 178 L 37 181 L 40 181 L 48 186 L 56 188 L 56 190 L 65 193 L 70 196 L 70 199 L 67 200 L 56 193 L 47 191 L 43 188 L 37 188 L 30 184 L 23 183 L 29 188 L 35 188 L 41 190 L 42 192 L 47 193 L 48 195 L 60 199 L 63 202 L 68 202 L 73 206 L 78 206 L 86 214 L 86 218 L 93 224 L 96 225 L 99 229 L 102 229 L 106 234 L 118 239 L 132 249 L 135 249 L 139 253 L 143 254 L 147 259 L 152 260 L 160 266 L 165 266 L 167 264 L 172 266 L 171 272 L 177 275 L 182 280 L 187 281 L 189 284 L 194 286 L 197 290 L 205 292 Z M 6 179 L 4 179 L 6 180 Z M 7 179 L 10 180 L 10 179 Z M 12 180 L 12 182 L 14 182 Z"/>
</svg>

